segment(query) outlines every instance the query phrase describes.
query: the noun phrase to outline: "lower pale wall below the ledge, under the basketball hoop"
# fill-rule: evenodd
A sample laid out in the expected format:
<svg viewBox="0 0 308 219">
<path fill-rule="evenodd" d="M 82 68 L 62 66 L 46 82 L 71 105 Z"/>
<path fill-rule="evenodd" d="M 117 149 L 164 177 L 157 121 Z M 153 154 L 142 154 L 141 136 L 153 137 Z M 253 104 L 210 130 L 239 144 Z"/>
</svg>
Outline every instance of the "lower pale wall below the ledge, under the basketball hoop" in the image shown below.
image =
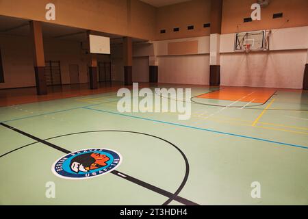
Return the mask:
<svg viewBox="0 0 308 219">
<path fill-rule="evenodd" d="M 220 55 L 221 85 L 303 88 L 307 50 Z"/>
</svg>

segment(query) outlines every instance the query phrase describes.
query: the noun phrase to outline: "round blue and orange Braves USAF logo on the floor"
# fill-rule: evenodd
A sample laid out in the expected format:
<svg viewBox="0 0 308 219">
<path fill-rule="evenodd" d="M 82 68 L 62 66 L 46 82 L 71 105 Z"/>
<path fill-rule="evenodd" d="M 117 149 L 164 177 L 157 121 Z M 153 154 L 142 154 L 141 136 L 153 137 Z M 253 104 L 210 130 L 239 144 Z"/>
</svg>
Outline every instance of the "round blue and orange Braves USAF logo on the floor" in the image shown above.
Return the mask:
<svg viewBox="0 0 308 219">
<path fill-rule="evenodd" d="M 64 179 L 90 179 L 115 170 L 122 162 L 121 155 L 110 149 L 84 149 L 58 159 L 51 170 Z"/>
</svg>

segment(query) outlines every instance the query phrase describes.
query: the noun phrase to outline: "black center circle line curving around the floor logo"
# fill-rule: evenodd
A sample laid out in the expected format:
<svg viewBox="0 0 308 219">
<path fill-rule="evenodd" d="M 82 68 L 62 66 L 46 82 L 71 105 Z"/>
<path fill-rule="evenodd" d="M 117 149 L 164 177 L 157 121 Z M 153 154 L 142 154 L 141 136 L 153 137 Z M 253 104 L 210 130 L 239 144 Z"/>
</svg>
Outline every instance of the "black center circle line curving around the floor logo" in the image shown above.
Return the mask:
<svg viewBox="0 0 308 219">
<path fill-rule="evenodd" d="M 185 161 L 185 176 L 183 178 L 183 181 L 181 182 L 181 185 L 179 185 L 179 188 L 177 189 L 177 191 L 175 193 L 173 193 L 172 197 L 168 198 L 168 200 L 166 202 L 163 203 L 163 205 L 168 205 L 171 201 L 174 200 L 175 196 L 178 196 L 178 194 L 181 192 L 181 190 L 183 190 L 186 182 L 188 181 L 188 175 L 190 173 L 190 165 L 189 165 L 189 162 L 188 162 L 188 159 L 186 157 L 186 155 L 183 153 L 183 151 L 181 151 L 181 149 L 179 149 L 178 146 L 176 146 L 175 144 L 172 144 L 171 142 L 169 142 L 168 140 L 165 140 L 164 138 L 159 138 L 157 136 L 153 136 L 153 135 L 150 135 L 148 133 L 142 133 L 142 132 L 137 132 L 137 131 L 123 131 L 123 130 L 97 130 L 97 131 L 81 131 L 81 132 L 76 132 L 76 133 L 68 133 L 68 134 L 64 134 L 64 135 L 61 135 L 61 136 L 55 136 L 55 137 L 52 137 L 52 138 L 47 138 L 47 139 L 44 139 L 45 141 L 46 140 L 52 140 L 52 139 L 55 139 L 55 138 L 61 138 L 61 137 L 65 137 L 65 136 L 73 136 L 73 135 L 77 135 L 77 134 L 81 134 L 81 133 L 95 133 L 95 132 L 124 132 L 124 133 L 137 133 L 137 134 L 141 134 L 141 135 L 144 135 L 144 136 L 150 136 L 150 137 L 153 137 L 153 138 L 157 138 L 159 140 L 162 140 L 164 142 L 167 142 L 168 144 L 171 144 L 173 147 L 175 147 L 175 149 L 177 149 L 177 151 L 179 151 L 179 153 L 181 153 L 184 161 Z M 19 147 L 18 149 L 14 149 L 13 151 L 10 151 L 8 153 L 5 153 L 4 155 L 1 155 L 0 157 L 3 157 L 5 155 L 8 155 L 9 153 L 12 153 L 14 151 L 18 151 L 19 149 L 23 149 L 25 148 L 26 146 L 30 146 L 32 144 L 36 144 L 36 143 L 39 143 L 39 142 L 33 142 L 31 144 L 27 144 L 25 146 L 21 146 Z"/>
</svg>

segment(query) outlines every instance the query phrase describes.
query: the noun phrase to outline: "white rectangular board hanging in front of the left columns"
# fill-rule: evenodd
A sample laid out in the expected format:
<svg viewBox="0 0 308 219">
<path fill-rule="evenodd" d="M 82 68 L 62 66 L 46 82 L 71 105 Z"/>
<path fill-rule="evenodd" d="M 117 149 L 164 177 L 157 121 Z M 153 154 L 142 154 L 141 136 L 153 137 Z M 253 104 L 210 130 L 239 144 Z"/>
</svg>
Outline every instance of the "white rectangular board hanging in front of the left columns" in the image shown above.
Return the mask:
<svg viewBox="0 0 308 219">
<path fill-rule="evenodd" d="M 90 53 L 110 54 L 110 38 L 89 35 Z"/>
</svg>

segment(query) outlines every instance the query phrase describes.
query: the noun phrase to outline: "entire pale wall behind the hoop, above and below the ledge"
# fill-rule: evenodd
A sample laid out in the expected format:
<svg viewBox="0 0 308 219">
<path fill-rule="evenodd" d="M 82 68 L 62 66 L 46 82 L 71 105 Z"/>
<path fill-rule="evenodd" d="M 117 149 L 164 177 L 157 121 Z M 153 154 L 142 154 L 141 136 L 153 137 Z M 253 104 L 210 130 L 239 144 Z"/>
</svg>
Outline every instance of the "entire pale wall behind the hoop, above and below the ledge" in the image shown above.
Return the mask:
<svg viewBox="0 0 308 219">
<path fill-rule="evenodd" d="M 238 53 L 235 34 L 220 37 L 221 85 L 303 88 L 308 27 L 273 29 L 270 51 Z"/>
</svg>

